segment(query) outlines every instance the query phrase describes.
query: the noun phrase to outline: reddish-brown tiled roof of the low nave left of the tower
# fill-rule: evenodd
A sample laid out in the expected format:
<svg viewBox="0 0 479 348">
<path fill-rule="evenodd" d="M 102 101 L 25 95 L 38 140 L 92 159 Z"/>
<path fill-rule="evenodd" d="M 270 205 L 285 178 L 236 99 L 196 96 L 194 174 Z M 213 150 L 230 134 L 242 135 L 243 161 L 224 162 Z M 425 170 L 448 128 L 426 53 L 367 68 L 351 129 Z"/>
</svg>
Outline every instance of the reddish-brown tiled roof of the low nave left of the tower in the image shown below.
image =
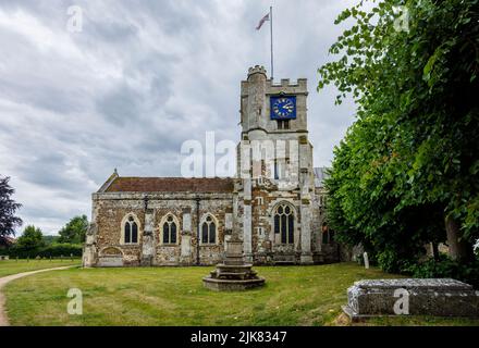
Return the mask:
<svg viewBox="0 0 479 348">
<path fill-rule="evenodd" d="M 120 177 L 116 176 L 106 192 L 232 192 L 231 177 Z"/>
</svg>

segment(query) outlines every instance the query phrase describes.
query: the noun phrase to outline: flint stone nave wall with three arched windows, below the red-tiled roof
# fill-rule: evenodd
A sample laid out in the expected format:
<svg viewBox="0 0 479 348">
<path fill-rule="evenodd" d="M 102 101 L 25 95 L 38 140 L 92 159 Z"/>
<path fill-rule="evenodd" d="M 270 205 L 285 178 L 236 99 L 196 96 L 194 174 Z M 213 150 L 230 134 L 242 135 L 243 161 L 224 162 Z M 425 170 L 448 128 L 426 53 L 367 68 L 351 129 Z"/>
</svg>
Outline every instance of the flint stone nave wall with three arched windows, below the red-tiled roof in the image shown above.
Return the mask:
<svg viewBox="0 0 479 348">
<path fill-rule="evenodd" d="M 217 219 L 217 243 L 201 245 L 200 263 L 217 264 L 224 251 L 225 220 L 232 211 L 233 194 L 201 194 L 199 219 L 211 214 Z M 195 192 L 148 192 L 148 213 L 145 210 L 144 192 L 94 194 L 94 216 L 98 231 L 95 247 L 99 251 L 97 260 L 88 265 L 189 265 L 196 263 L 197 216 Z M 122 221 L 130 213 L 139 223 L 138 243 L 122 244 Z M 172 214 L 177 220 L 176 244 L 163 245 L 161 238 L 162 217 Z M 231 213 L 230 213 L 231 214 Z M 148 216 L 148 219 L 146 219 Z M 185 217 L 185 219 L 184 219 Z M 232 217 L 230 216 L 230 220 Z M 185 223 L 186 222 L 186 223 Z M 192 231 L 194 229 L 194 231 Z M 148 231 L 151 234 L 145 234 Z M 116 254 L 110 254 L 114 248 Z M 108 251 L 108 252 L 106 252 Z"/>
</svg>

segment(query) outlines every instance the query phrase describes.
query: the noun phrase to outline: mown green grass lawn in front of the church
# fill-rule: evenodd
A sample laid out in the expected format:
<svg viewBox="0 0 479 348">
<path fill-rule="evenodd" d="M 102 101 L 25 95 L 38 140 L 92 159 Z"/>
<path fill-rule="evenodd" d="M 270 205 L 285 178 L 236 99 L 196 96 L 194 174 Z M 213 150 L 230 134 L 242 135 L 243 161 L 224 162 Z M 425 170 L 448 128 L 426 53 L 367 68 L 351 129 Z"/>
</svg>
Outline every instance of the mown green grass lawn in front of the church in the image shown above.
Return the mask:
<svg viewBox="0 0 479 348">
<path fill-rule="evenodd" d="M 212 268 L 72 269 L 7 285 L 13 325 L 341 325 L 346 289 L 361 278 L 395 277 L 355 263 L 258 266 L 263 288 L 214 293 Z M 69 315 L 70 288 L 83 291 L 83 315 Z M 472 320 L 380 319 L 366 325 L 479 325 Z"/>
</svg>

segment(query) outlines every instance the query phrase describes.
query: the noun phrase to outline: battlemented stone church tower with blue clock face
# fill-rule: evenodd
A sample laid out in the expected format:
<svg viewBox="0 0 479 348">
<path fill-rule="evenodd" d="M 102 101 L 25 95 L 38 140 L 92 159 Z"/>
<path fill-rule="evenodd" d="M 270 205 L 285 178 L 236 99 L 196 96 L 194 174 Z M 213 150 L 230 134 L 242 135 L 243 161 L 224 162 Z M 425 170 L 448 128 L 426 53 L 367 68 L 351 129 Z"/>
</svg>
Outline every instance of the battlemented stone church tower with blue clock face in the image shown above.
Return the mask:
<svg viewBox="0 0 479 348">
<path fill-rule="evenodd" d="M 246 261 L 312 262 L 307 96 L 306 78 L 274 84 L 258 65 L 242 82 L 237 176 Z"/>
</svg>

